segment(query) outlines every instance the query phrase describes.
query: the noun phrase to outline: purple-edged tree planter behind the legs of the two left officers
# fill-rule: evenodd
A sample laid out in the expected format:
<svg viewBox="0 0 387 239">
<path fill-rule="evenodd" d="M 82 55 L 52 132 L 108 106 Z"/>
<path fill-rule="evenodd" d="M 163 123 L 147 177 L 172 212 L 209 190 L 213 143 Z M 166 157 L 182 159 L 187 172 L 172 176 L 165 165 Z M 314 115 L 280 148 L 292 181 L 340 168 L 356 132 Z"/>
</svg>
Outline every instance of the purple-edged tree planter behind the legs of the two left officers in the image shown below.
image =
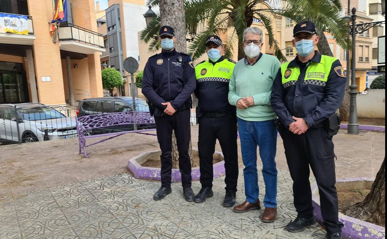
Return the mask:
<svg viewBox="0 0 387 239">
<path fill-rule="evenodd" d="M 197 150 L 193 150 L 197 151 Z M 158 151 L 149 151 L 141 153 L 134 158 L 131 158 L 128 162 L 128 169 L 130 172 L 134 174 L 134 177 L 137 179 L 151 179 L 161 181 L 160 169 L 159 168 L 151 168 L 151 167 L 143 167 L 142 163 L 146 162 L 149 157 L 160 157 L 161 152 Z M 224 170 L 224 158 L 221 152 L 215 151 L 215 154 L 219 154 L 219 156 L 223 159 L 219 163 L 215 163 L 213 166 L 214 178 L 221 177 L 225 175 Z M 199 167 L 192 168 L 192 180 L 200 179 L 200 170 Z M 172 169 L 172 182 L 181 182 L 182 174 L 179 169 Z"/>
</svg>

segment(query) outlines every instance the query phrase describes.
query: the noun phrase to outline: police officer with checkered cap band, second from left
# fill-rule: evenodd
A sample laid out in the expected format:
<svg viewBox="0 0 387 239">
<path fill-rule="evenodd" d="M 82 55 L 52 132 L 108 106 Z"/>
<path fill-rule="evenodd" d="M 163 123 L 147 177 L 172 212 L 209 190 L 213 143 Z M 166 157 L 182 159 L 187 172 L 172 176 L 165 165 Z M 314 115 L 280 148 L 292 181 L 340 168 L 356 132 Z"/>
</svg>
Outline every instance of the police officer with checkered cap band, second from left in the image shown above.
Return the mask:
<svg viewBox="0 0 387 239">
<path fill-rule="evenodd" d="M 238 150 L 236 129 L 236 108 L 228 103 L 228 84 L 235 62 L 222 57 L 223 43 L 218 36 L 207 38 L 206 52 L 209 60 L 195 67 L 197 86 L 195 95 L 199 100 L 196 108 L 199 122 L 200 183 L 202 189 L 195 196 L 195 202 L 202 203 L 212 197 L 212 155 L 216 139 L 219 140 L 226 170 L 226 196 L 223 206 L 235 204 L 238 181 Z"/>
</svg>

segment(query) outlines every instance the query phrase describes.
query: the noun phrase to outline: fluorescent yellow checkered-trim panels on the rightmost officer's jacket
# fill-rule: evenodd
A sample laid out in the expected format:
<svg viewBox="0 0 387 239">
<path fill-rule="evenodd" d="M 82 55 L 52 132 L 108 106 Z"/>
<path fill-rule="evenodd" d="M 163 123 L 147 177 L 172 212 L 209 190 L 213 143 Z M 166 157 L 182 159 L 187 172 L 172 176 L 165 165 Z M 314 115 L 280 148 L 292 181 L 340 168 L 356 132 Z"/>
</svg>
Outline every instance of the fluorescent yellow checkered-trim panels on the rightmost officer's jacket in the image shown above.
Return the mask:
<svg viewBox="0 0 387 239">
<path fill-rule="evenodd" d="M 335 57 L 321 55 L 320 63 L 312 62 L 305 72 L 304 85 L 314 84 L 325 86 L 328 81 L 330 69 L 332 69 L 332 64 L 336 60 L 337 58 Z M 289 63 L 290 62 L 286 62 L 281 65 L 282 84 L 284 88 L 296 84 L 298 77 L 300 76 L 300 68 L 298 68 L 298 66 L 288 67 Z"/>
</svg>

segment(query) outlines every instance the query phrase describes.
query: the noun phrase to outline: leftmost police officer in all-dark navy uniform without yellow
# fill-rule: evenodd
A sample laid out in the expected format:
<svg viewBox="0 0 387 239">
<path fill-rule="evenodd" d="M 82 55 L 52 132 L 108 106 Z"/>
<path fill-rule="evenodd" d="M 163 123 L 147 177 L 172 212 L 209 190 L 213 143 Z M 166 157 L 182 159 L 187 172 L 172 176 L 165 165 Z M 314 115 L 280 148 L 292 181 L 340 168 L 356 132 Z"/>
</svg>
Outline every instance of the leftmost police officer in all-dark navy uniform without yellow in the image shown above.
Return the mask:
<svg viewBox="0 0 387 239">
<path fill-rule="evenodd" d="M 172 130 L 179 151 L 179 169 L 182 174 L 185 200 L 194 201 L 191 189 L 191 161 L 188 154 L 191 139 L 191 95 L 196 88 L 194 63 L 189 55 L 176 52 L 175 31 L 162 26 L 159 41 L 163 50 L 149 57 L 142 78 L 142 93 L 156 122 L 157 139 L 161 149 L 161 187 L 153 199 L 163 199 L 171 193 Z"/>
</svg>

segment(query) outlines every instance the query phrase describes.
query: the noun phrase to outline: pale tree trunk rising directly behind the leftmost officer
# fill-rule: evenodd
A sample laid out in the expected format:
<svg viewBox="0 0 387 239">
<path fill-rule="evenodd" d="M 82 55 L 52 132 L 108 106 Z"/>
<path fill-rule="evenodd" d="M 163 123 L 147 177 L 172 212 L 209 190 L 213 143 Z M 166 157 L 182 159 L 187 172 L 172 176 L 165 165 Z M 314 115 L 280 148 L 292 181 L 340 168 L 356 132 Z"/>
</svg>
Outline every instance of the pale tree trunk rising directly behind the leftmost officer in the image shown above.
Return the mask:
<svg viewBox="0 0 387 239">
<path fill-rule="evenodd" d="M 175 50 L 187 52 L 185 11 L 183 0 L 159 0 L 161 26 L 171 26 L 175 30 Z M 190 141 L 189 154 L 192 167 L 196 167 L 192 156 L 192 143 Z M 172 134 L 172 167 L 178 169 L 179 153 L 177 151 L 175 132 Z"/>
</svg>

